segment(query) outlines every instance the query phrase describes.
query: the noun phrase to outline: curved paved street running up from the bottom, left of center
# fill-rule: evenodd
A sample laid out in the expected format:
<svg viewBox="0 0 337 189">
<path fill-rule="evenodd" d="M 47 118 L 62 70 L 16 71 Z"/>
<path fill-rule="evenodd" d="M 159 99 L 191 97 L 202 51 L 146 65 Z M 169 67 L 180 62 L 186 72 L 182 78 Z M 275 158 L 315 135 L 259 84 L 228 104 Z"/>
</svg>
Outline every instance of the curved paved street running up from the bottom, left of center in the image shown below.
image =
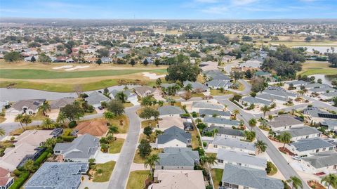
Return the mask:
<svg viewBox="0 0 337 189">
<path fill-rule="evenodd" d="M 140 132 L 140 118 L 136 114 L 138 108 L 140 108 L 139 105 L 126 108 L 125 113 L 130 120 L 128 136 L 124 141 L 123 148 L 121 148 L 119 160 L 114 166 L 114 171 L 112 171 L 108 186 L 109 189 L 126 188 L 126 183 L 130 174 L 130 167 L 135 156 Z"/>
</svg>

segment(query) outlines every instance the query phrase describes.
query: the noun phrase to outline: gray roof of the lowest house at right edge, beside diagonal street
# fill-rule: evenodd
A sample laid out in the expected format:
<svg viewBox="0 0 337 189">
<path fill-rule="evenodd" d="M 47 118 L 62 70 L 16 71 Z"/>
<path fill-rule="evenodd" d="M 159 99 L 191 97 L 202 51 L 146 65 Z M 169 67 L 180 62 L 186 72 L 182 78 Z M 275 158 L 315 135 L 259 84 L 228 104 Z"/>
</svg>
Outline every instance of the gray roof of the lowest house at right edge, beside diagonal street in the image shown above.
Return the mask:
<svg viewBox="0 0 337 189">
<path fill-rule="evenodd" d="M 337 152 L 327 151 L 315 153 L 310 157 L 303 157 L 303 161 L 310 163 L 316 169 L 329 167 L 337 164 Z"/>
</svg>

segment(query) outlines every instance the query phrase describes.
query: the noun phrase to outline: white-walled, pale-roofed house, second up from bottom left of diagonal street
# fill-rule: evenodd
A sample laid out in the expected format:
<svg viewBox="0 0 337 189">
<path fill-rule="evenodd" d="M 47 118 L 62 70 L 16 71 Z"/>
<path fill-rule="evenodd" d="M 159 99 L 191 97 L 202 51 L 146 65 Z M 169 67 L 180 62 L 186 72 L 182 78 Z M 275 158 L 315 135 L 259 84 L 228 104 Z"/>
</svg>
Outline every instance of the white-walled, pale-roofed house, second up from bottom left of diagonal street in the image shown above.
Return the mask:
<svg viewBox="0 0 337 189">
<path fill-rule="evenodd" d="M 219 149 L 216 155 L 217 164 L 213 167 L 223 169 L 225 164 L 235 164 L 242 167 L 250 167 L 253 169 L 265 170 L 267 167 L 267 159 L 249 155 L 246 152 L 237 152 L 233 150 Z"/>
</svg>

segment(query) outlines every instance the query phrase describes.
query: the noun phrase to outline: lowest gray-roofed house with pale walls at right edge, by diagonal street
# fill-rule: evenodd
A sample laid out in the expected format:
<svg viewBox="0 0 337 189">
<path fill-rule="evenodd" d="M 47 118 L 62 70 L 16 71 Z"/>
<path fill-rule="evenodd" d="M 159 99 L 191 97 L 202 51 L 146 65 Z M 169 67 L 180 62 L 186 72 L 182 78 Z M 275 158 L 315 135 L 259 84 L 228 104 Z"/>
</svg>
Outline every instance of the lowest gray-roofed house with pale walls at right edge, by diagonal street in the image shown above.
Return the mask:
<svg viewBox="0 0 337 189">
<path fill-rule="evenodd" d="M 327 151 L 319 152 L 303 157 L 305 168 L 309 169 L 312 174 L 326 173 L 337 174 L 337 152 Z"/>
</svg>

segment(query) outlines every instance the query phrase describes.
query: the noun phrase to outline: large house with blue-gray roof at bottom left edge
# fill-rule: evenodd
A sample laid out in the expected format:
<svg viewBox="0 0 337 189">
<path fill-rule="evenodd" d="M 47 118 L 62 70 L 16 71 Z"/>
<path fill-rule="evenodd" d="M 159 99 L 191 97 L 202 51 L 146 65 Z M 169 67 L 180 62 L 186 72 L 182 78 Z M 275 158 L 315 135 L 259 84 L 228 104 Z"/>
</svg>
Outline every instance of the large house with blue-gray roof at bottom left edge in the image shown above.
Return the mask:
<svg viewBox="0 0 337 189">
<path fill-rule="evenodd" d="M 46 162 L 25 183 L 26 189 L 65 188 L 77 189 L 82 174 L 88 171 L 88 163 Z"/>
</svg>

